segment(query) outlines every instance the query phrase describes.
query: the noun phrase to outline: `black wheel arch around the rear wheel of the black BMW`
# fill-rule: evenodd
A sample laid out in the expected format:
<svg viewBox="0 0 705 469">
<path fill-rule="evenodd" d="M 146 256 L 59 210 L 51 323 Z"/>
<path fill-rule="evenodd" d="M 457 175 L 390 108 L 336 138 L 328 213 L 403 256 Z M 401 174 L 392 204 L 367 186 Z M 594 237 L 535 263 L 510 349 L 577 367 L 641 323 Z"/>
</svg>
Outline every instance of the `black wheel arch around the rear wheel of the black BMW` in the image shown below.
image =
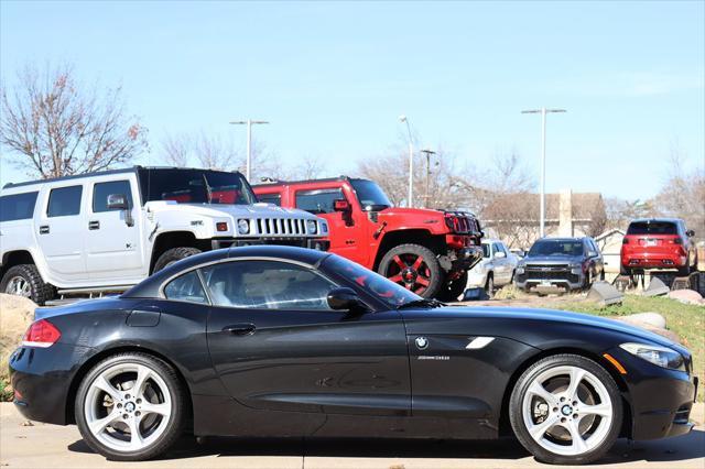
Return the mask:
<svg viewBox="0 0 705 469">
<path fill-rule="evenodd" d="M 119 353 L 126 353 L 126 352 L 137 352 L 137 353 L 152 356 L 154 358 L 158 358 L 164 361 L 166 364 L 172 367 L 172 369 L 174 369 L 174 371 L 176 372 L 176 377 L 178 379 L 178 383 L 187 392 L 186 402 L 188 403 L 188 411 L 187 411 L 186 422 L 188 422 L 187 429 L 193 430 L 193 408 L 194 408 L 193 397 L 191 394 L 191 388 L 188 386 L 188 382 L 184 378 L 184 374 L 182 373 L 181 369 L 172 360 L 166 358 L 164 355 L 141 346 L 119 346 L 119 347 L 105 349 L 96 353 L 95 356 L 90 357 L 80 366 L 80 368 L 74 374 L 74 378 L 72 379 L 72 382 L 68 386 L 68 392 L 66 394 L 66 417 L 65 417 L 66 424 L 68 425 L 68 424 L 76 423 L 76 418 L 75 418 L 76 393 L 78 392 L 80 382 L 84 380 L 86 374 L 88 374 L 90 369 L 95 367 L 96 363 L 100 362 L 101 360 L 105 360 L 108 357 L 111 357 L 113 355 L 119 355 Z"/>
</svg>

